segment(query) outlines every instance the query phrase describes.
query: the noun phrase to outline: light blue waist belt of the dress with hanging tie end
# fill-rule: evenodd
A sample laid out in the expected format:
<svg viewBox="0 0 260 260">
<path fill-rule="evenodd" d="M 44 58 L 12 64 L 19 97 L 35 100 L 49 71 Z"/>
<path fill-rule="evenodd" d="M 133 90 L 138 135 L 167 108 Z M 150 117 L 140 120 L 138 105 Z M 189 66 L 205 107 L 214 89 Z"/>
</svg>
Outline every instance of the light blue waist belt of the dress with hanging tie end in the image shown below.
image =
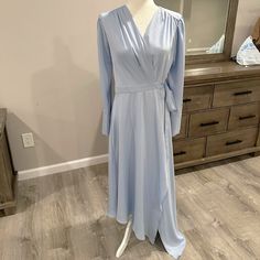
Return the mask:
<svg viewBox="0 0 260 260">
<path fill-rule="evenodd" d="M 170 111 L 176 110 L 176 102 L 172 89 L 169 87 L 167 83 L 145 83 L 145 84 L 132 84 L 132 85 L 115 85 L 115 94 L 123 93 L 138 93 L 138 91 L 149 91 L 152 89 L 164 89 L 165 90 L 165 101 L 167 109 Z"/>
</svg>

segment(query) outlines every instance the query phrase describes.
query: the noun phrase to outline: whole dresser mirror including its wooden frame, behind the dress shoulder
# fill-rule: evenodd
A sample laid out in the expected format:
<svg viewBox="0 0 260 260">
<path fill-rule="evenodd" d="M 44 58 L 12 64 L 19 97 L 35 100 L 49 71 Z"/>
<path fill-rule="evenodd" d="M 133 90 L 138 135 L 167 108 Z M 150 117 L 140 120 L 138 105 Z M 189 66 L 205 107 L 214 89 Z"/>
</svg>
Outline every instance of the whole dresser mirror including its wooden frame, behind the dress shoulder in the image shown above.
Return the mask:
<svg viewBox="0 0 260 260">
<path fill-rule="evenodd" d="M 230 57 L 238 0 L 155 0 L 182 13 L 186 29 L 186 63 Z"/>
</svg>

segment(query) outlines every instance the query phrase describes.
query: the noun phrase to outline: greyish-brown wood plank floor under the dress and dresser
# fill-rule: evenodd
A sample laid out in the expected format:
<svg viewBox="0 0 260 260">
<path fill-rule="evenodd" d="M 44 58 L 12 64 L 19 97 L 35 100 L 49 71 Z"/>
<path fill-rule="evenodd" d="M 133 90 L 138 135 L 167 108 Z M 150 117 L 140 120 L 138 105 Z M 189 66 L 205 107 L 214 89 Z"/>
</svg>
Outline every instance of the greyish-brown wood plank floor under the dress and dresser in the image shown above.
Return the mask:
<svg viewBox="0 0 260 260">
<path fill-rule="evenodd" d="M 209 164 L 210 165 L 210 164 Z M 260 156 L 176 175 L 182 260 L 260 259 Z M 107 163 L 19 182 L 17 214 L 0 218 L 0 259 L 116 259 L 124 226 L 106 217 Z M 121 259 L 173 259 L 133 232 Z"/>
</svg>

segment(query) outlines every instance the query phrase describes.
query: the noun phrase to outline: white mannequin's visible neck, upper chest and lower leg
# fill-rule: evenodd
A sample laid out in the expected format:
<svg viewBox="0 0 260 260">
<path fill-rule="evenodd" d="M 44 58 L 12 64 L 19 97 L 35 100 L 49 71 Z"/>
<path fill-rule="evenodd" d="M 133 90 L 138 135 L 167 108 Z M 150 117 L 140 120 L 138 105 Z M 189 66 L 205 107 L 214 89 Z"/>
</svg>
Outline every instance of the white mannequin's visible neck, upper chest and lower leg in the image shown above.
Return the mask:
<svg viewBox="0 0 260 260">
<path fill-rule="evenodd" d="M 140 33 L 143 35 L 150 20 L 152 19 L 154 12 L 158 10 L 158 6 L 153 0 L 129 0 L 126 2 L 129 11 L 132 13 L 133 21 L 136 22 Z M 127 228 L 124 231 L 123 239 L 119 246 L 116 257 L 119 258 L 123 253 L 126 247 L 128 246 L 132 230 L 132 216 L 130 215 Z"/>
</svg>

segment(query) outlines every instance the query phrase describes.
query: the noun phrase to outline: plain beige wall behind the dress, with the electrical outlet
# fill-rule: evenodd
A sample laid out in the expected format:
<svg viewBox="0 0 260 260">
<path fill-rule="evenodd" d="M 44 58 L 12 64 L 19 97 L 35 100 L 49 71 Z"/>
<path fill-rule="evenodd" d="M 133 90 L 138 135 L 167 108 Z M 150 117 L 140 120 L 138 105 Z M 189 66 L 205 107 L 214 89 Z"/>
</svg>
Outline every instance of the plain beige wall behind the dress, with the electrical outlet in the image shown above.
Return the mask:
<svg viewBox="0 0 260 260">
<path fill-rule="evenodd" d="M 243 1 L 246 2 L 246 1 Z M 235 48 L 258 0 L 241 4 Z M 107 153 L 100 133 L 96 20 L 124 1 L 1 1 L 0 107 L 17 170 Z M 246 25 L 246 23 L 250 25 Z M 21 133 L 35 147 L 23 149 Z"/>
</svg>

